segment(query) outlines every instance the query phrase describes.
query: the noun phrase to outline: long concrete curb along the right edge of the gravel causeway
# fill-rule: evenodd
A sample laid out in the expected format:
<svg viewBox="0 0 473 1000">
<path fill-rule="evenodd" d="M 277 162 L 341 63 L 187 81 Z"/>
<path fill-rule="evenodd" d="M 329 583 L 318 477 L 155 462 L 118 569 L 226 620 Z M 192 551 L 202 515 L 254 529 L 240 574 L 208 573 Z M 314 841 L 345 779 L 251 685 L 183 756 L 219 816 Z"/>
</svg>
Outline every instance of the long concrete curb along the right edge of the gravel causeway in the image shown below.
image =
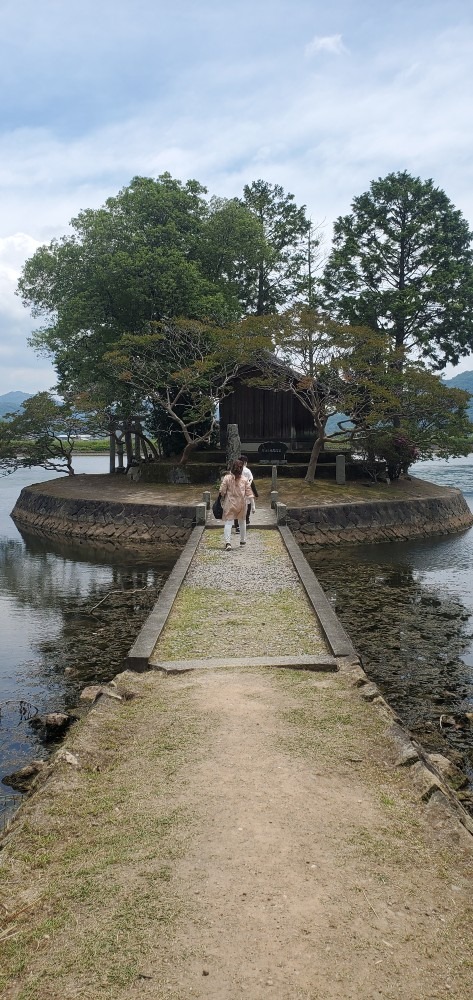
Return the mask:
<svg viewBox="0 0 473 1000">
<path fill-rule="evenodd" d="M 322 631 L 334 656 L 347 656 L 359 662 L 358 653 L 350 637 L 339 622 L 331 604 L 327 600 L 317 577 L 311 570 L 307 559 L 302 554 L 292 532 L 283 525 L 278 525 L 278 531 L 286 546 L 294 569 L 304 587 L 309 601 L 319 619 Z"/>
</svg>

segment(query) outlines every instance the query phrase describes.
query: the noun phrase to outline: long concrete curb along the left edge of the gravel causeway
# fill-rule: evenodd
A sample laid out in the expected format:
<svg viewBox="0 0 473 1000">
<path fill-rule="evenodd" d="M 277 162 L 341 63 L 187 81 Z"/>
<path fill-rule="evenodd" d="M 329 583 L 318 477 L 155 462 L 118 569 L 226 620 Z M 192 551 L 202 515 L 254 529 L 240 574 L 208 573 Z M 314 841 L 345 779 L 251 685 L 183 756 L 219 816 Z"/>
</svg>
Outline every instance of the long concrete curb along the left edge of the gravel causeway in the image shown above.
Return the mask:
<svg viewBox="0 0 473 1000">
<path fill-rule="evenodd" d="M 149 658 L 166 624 L 181 583 L 189 569 L 204 531 L 204 525 L 199 525 L 199 527 L 193 529 L 174 569 L 164 584 L 151 614 L 148 615 L 128 653 L 126 662 L 130 670 L 140 672 L 148 670 Z"/>
</svg>

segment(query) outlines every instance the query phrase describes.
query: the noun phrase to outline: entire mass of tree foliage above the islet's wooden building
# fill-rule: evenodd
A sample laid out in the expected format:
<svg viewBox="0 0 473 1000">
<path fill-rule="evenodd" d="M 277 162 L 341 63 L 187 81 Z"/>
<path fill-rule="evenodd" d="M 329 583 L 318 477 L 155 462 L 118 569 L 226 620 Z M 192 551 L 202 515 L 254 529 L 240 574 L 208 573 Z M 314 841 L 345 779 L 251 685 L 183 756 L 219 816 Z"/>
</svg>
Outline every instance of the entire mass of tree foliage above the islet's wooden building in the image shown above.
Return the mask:
<svg viewBox="0 0 473 1000">
<path fill-rule="evenodd" d="M 350 417 L 336 433 L 371 456 L 400 442 L 405 454 L 466 447 L 466 397 L 427 366 L 473 348 L 472 234 L 431 180 L 373 181 L 335 223 L 318 281 L 305 206 L 263 180 L 208 198 L 196 180 L 135 177 L 71 227 L 18 285 L 71 413 L 82 398 L 128 426 L 153 410 L 179 428 L 185 460 L 209 439 L 238 365 L 276 350 L 284 364 L 265 377 L 314 421 L 309 479 L 335 410 Z"/>
</svg>

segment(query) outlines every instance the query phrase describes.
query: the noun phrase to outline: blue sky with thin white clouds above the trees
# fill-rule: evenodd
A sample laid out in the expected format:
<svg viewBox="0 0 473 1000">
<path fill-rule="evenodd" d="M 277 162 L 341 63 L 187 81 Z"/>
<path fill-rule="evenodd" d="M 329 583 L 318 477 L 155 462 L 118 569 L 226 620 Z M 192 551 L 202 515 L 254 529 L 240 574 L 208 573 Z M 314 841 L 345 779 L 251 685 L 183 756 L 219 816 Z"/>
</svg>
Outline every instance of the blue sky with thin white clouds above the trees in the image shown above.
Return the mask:
<svg viewBox="0 0 473 1000">
<path fill-rule="evenodd" d="M 0 394 L 55 382 L 24 261 L 136 175 L 281 184 L 327 250 L 407 170 L 473 229 L 472 81 L 471 0 L 0 0 Z"/>
</svg>

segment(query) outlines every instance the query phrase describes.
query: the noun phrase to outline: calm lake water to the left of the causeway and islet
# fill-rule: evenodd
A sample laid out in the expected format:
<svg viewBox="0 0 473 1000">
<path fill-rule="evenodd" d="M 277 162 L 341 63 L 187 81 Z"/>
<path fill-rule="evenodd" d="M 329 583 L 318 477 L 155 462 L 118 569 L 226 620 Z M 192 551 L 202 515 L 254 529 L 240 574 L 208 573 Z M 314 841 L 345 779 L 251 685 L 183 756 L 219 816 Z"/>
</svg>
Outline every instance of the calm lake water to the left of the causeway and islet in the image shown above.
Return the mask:
<svg viewBox="0 0 473 1000">
<path fill-rule="evenodd" d="M 108 472 L 108 456 L 77 458 L 74 468 Z M 144 600 L 143 590 L 153 594 L 170 568 L 168 554 L 160 560 L 157 553 L 151 566 L 120 550 L 100 555 L 84 545 L 23 537 L 10 511 L 24 486 L 52 478 L 41 468 L 0 477 L 0 777 L 47 756 L 31 716 L 74 706 L 84 683 L 121 669 L 139 627 L 130 599 Z M 87 613 L 109 594 L 102 617 Z M 0 828 L 2 808 L 14 798 L 0 782 Z"/>
</svg>

